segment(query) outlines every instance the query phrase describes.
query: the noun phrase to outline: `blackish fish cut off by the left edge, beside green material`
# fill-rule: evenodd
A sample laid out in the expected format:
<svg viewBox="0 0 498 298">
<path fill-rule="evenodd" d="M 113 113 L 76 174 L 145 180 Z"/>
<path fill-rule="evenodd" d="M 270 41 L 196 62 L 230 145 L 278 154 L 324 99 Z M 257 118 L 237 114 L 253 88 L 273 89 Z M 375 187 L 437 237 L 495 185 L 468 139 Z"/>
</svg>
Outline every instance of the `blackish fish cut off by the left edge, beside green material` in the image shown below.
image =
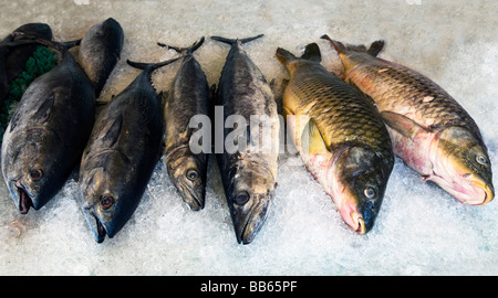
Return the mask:
<svg viewBox="0 0 498 298">
<path fill-rule="evenodd" d="M 27 23 L 0 42 L 0 105 L 7 98 L 12 81 L 24 70 L 25 62 L 40 46 L 35 39 L 52 40 L 50 25 Z"/>
</svg>

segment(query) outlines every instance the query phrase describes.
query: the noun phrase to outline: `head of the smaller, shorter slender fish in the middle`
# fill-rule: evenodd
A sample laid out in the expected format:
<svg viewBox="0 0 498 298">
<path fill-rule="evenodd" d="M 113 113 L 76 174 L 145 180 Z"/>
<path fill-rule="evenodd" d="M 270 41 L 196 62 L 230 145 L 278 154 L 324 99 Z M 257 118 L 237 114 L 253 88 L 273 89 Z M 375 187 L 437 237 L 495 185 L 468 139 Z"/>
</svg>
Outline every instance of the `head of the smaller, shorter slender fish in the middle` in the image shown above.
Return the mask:
<svg viewBox="0 0 498 298">
<path fill-rule="evenodd" d="M 165 160 L 169 178 L 184 202 L 194 211 L 204 209 L 206 196 L 206 156 L 194 155 L 188 147 L 176 150 Z"/>
</svg>

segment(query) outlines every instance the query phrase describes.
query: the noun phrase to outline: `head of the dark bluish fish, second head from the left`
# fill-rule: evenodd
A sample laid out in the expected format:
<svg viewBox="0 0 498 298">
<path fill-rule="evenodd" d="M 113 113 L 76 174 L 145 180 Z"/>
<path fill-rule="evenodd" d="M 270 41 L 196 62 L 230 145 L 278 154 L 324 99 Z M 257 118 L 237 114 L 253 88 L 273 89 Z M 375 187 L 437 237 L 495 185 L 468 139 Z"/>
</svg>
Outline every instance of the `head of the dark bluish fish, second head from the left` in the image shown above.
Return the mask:
<svg viewBox="0 0 498 298">
<path fill-rule="evenodd" d="M 97 243 L 102 243 L 105 235 L 112 238 L 135 210 L 134 200 L 124 191 L 125 183 L 115 177 L 102 167 L 80 175 L 82 210 Z"/>
</svg>

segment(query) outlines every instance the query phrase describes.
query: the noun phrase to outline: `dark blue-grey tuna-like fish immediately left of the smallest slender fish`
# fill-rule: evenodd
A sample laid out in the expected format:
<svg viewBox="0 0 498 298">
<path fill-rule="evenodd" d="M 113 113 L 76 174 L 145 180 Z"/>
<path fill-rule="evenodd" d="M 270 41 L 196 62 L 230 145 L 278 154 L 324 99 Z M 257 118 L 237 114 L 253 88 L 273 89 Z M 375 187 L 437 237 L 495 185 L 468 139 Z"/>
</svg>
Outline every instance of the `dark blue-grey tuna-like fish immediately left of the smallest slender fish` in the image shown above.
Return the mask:
<svg viewBox="0 0 498 298">
<path fill-rule="evenodd" d="M 163 95 L 152 73 L 178 58 L 145 64 L 127 61 L 142 73 L 102 108 L 84 149 L 79 173 L 81 210 L 95 242 L 118 233 L 138 206 L 159 161 Z"/>
</svg>

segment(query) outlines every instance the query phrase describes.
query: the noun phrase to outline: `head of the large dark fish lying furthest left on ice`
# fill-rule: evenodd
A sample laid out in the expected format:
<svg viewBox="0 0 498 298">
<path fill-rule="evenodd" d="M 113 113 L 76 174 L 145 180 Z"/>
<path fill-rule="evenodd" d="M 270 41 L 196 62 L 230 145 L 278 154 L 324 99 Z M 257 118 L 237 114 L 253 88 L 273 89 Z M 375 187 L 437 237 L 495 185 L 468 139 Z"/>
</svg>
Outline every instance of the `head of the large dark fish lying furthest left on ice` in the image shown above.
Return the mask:
<svg viewBox="0 0 498 298">
<path fill-rule="evenodd" d="M 37 140 L 42 135 L 41 131 L 33 130 L 27 138 L 4 140 L 10 148 L 3 150 L 3 177 L 21 214 L 27 214 L 30 207 L 42 207 L 63 183 L 58 171 L 59 161 L 51 152 L 40 149 Z"/>
</svg>

